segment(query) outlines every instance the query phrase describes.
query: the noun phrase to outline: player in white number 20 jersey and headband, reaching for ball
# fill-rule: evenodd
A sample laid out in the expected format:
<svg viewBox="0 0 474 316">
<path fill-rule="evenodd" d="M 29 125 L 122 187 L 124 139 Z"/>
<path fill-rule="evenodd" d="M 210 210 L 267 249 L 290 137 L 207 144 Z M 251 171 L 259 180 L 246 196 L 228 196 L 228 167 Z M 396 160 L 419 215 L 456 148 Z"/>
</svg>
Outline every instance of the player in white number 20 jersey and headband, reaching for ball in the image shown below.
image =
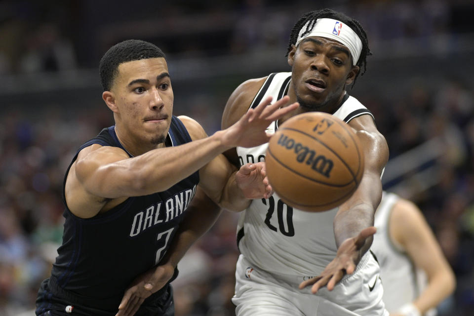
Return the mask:
<svg viewBox="0 0 474 316">
<path fill-rule="evenodd" d="M 346 92 L 367 55 L 366 34 L 356 20 L 330 9 L 309 12 L 291 32 L 291 73 L 247 80 L 229 98 L 223 127 L 267 96 L 275 100 L 288 95 L 300 107 L 271 123 L 268 133 L 294 115 L 326 112 L 354 128 L 365 154 L 358 189 L 337 208 L 304 212 L 274 194 L 254 199 L 241 213 L 233 298 L 238 316 L 388 315 L 378 263 L 368 252 L 388 147 L 370 112 Z M 267 146 L 237 147 L 225 154 L 236 165 L 264 161 Z"/>
</svg>

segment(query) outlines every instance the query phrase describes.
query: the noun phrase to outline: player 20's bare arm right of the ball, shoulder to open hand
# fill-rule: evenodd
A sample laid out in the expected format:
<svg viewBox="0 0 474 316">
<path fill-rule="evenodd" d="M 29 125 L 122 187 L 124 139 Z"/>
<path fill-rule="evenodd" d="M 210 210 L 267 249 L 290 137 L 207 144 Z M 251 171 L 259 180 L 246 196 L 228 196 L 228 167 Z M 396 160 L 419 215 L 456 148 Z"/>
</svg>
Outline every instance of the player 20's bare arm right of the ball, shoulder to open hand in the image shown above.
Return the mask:
<svg viewBox="0 0 474 316">
<path fill-rule="evenodd" d="M 374 214 L 382 198 L 380 177 L 388 160 L 387 142 L 370 116 L 355 118 L 349 125 L 356 129 L 364 151 L 364 174 L 356 192 L 339 206 L 334 218 L 336 257 L 321 275 L 300 284 L 300 288 L 313 285 L 313 293 L 323 286 L 332 290 L 345 274 L 352 274 L 376 232 Z"/>
</svg>

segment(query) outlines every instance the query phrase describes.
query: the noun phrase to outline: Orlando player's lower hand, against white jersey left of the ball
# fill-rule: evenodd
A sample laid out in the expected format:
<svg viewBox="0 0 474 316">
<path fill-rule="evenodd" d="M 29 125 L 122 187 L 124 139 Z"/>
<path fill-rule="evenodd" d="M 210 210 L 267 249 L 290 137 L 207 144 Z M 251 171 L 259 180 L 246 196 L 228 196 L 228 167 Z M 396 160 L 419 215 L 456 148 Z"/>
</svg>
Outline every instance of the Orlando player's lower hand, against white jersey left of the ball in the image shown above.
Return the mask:
<svg viewBox="0 0 474 316">
<path fill-rule="evenodd" d="M 269 198 L 273 194 L 265 162 L 246 163 L 236 174 L 237 186 L 248 199 Z"/>
</svg>

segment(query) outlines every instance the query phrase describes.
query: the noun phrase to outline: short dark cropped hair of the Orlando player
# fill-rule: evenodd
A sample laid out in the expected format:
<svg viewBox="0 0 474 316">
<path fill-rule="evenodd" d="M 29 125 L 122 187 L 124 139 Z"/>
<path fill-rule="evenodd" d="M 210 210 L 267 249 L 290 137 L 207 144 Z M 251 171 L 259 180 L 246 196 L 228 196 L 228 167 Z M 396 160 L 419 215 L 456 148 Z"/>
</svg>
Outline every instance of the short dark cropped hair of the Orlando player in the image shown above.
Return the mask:
<svg viewBox="0 0 474 316">
<path fill-rule="evenodd" d="M 118 66 L 133 60 L 159 58 L 166 59 L 155 44 L 144 40 L 124 40 L 115 44 L 102 56 L 99 63 L 100 81 L 104 91 L 110 91 L 112 82 L 118 75 Z"/>
</svg>

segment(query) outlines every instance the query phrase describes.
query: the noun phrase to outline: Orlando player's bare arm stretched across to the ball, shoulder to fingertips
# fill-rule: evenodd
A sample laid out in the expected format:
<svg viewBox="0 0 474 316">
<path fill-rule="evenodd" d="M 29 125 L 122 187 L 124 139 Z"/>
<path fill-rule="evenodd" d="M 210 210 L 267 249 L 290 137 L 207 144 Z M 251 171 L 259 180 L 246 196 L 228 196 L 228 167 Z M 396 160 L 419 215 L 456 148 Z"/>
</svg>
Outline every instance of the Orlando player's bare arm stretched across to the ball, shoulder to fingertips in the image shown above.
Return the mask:
<svg viewBox="0 0 474 316">
<path fill-rule="evenodd" d="M 92 145 L 83 149 L 67 178 L 68 206 L 79 217 L 92 217 L 107 200 L 164 191 L 227 149 L 267 142 L 268 124 L 297 107 L 279 109 L 287 99 L 269 105 L 271 101 L 264 100 L 229 128 L 181 146 L 158 148 L 134 158 L 118 148 Z"/>
</svg>

